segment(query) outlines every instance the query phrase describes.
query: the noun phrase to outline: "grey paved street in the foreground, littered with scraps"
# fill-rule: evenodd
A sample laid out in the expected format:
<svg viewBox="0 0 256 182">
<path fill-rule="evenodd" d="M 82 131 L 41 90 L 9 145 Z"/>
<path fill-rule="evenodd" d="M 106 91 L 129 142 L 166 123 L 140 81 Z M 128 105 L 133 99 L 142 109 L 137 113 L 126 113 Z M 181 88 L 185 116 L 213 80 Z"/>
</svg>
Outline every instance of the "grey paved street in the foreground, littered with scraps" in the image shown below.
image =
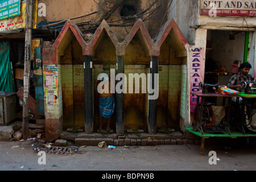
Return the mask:
<svg viewBox="0 0 256 182">
<path fill-rule="evenodd" d="M 98 146 L 73 147 L 69 155 L 46 154 L 46 164 L 40 165 L 35 140 L 0 142 L 1 171 L 254 171 L 256 150 L 253 144 L 230 145 L 205 143 L 200 145 L 161 146 Z M 209 151 L 216 151 L 217 164 L 209 164 Z M 43 160 L 41 160 L 43 161 Z"/>
</svg>

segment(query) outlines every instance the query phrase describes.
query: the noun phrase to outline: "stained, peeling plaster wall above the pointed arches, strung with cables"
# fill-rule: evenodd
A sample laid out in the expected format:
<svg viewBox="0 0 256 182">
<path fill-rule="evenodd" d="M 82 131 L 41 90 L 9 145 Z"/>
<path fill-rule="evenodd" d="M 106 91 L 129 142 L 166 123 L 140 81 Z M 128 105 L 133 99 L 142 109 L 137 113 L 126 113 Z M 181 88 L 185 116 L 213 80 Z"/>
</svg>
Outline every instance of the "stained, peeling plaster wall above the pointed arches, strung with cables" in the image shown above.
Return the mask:
<svg viewBox="0 0 256 182">
<path fill-rule="evenodd" d="M 136 13 L 140 13 L 141 11 L 147 9 L 148 6 L 152 5 L 155 0 L 48 0 L 42 1 L 46 4 L 46 17 L 39 17 L 38 23 L 42 20 L 47 20 L 48 22 L 56 22 L 59 20 L 65 20 L 68 18 L 73 18 L 75 16 L 80 16 L 84 14 L 91 13 L 93 11 L 97 11 L 96 14 L 85 16 L 84 18 L 73 19 L 73 22 L 84 22 L 90 21 L 90 25 L 84 26 L 81 28 L 82 31 L 89 30 L 93 32 L 96 30 L 97 26 L 100 25 L 101 21 L 105 19 L 110 24 L 121 24 L 123 20 L 116 21 L 122 19 L 121 17 L 121 10 L 125 6 L 132 6 L 135 9 Z M 98 4 L 97 4 L 97 3 Z M 164 16 L 168 7 L 168 4 L 171 1 L 159 1 L 154 6 L 151 7 L 150 10 L 155 9 L 161 3 L 163 5 L 160 9 L 148 20 L 144 21 L 144 24 L 151 36 L 153 38 L 157 32 L 161 24 L 164 24 L 167 20 L 167 16 Z M 40 2 L 39 2 L 40 3 Z M 103 8 L 102 8 L 103 7 Z M 149 11 L 150 11 L 149 10 Z M 147 18 L 150 13 L 144 14 L 140 17 L 134 17 L 134 20 L 127 24 L 134 24 L 138 18 L 142 20 Z M 164 18 L 166 17 L 166 18 Z M 163 23 L 162 23 L 163 19 Z M 98 24 L 94 24 L 98 23 Z M 122 42 L 129 31 L 131 30 L 132 26 L 127 27 L 112 27 L 113 32 L 117 36 L 118 40 Z"/>
</svg>

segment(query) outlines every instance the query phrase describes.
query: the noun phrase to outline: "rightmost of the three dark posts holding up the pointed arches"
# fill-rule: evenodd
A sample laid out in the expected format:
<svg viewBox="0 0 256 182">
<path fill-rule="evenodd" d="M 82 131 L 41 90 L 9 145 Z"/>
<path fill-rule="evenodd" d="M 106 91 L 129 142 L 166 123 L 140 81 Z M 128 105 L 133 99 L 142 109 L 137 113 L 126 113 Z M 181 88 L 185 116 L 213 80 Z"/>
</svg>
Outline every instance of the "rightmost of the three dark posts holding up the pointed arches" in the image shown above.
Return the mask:
<svg viewBox="0 0 256 182">
<path fill-rule="evenodd" d="M 158 74 L 158 57 L 152 56 L 152 67 L 150 68 L 150 73 L 152 74 L 152 88 L 155 89 L 158 86 L 157 83 L 154 82 L 155 74 Z M 154 94 L 154 93 L 153 93 Z M 156 133 L 156 111 L 157 111 L 157 100 L 149 100 L 149 109 L 148 109 L 148 133 L 155 134 Z"/>
</svg>

